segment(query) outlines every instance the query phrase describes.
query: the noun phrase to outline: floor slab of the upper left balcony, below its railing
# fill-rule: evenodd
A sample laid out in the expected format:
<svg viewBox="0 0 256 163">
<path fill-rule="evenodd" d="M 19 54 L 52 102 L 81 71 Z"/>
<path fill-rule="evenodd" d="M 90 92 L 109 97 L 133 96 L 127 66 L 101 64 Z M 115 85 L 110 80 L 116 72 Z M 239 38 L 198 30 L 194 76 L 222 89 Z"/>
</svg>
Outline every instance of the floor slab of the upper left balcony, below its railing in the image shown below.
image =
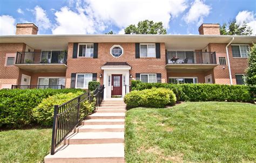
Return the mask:
<svg viewBox="0 0 256 163">
<path fill-rule="evenodd" d="M 66 72 L 65 64 L 15 64 L 19 69 L 30 72 Z"/>
</svg>

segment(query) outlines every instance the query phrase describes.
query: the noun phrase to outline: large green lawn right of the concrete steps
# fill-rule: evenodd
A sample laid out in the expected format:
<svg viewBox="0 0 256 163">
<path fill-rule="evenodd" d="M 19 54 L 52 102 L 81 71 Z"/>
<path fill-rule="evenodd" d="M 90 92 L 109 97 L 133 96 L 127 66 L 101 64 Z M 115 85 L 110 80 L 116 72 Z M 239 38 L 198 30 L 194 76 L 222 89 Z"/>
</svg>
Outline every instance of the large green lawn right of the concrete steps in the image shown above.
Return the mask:
<svg viewBox="0 0 256 163">
<path fill-rule="evenodd" d="M 126 112 L 126 162 L 256 161 L 256 105 L 186 102 Z"/>
</svg>

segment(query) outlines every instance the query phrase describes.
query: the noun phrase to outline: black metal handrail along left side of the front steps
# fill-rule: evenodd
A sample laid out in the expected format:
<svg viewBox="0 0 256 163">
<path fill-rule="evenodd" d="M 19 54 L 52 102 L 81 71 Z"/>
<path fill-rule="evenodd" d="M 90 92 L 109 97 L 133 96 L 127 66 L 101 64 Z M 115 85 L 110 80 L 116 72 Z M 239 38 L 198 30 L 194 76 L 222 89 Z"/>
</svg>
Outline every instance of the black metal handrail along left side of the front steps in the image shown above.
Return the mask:
<svg viewBox="0 0 256 163">
<path fill-rule="evenodd" d="M 51 155 L 55 154 L 55 148 L 78 126 L 80 121 L 85 118 L 81 114 L 84 102 L 87 100 L 92 102 L 93 98 L 96 98 L 95 106 L 99 106 L 102 103 L 103 94 L 104 85 L 98 86 L 93 93 L 86 92 L 62 105 L 54 106 Z M 87 114 L 89 113 L 87 112 L 86 115 Z"/>
</svg>

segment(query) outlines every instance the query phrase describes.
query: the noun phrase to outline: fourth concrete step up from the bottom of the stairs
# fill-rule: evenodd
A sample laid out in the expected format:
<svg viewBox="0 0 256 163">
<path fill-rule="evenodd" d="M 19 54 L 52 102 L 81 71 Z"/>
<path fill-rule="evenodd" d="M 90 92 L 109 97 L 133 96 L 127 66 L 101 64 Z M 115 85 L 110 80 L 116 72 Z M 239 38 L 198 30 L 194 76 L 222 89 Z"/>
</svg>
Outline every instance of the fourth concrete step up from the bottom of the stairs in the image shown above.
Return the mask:
<svg viewBox="0 0 256 163">
<path fill-rule="evenodd" d="M 124 125 L 124 119 L 87 119 L 81 125 Z"/>
</svg>

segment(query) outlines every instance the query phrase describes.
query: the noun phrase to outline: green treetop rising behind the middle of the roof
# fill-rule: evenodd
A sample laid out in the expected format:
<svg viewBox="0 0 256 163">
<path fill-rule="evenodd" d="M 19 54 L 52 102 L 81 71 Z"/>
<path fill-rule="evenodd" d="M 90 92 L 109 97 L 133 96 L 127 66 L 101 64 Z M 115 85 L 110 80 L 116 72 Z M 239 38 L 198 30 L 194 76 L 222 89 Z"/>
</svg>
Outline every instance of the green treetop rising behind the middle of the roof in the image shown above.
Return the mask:
<svg viewBox="0 0 256 163">
<path fill-rule="evenodd" d="M 166 34 L 166 29 L 162 22 L 140 21 L 138 25 L 131 24 L 125 29 L 125 34 Z"/>
</svg>

